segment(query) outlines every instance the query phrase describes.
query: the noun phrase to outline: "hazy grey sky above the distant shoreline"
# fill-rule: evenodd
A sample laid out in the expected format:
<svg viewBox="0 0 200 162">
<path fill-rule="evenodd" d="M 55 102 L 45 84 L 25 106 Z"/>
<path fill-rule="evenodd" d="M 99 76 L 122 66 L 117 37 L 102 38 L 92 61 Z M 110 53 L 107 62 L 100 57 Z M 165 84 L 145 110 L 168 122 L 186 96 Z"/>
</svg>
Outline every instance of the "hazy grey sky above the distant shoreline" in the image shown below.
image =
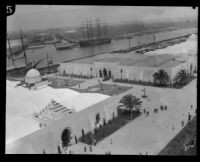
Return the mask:
<svg viewBox="0 0 200 162">
<path fill-rule="evenodd" d="M 123 22 L 169 21 L 194 17 L 198 8 L 139 6 L 16 5 L 14 15 L 7 18 L 7 30 L 32 30 L 80 26 L 87 19 L 99 17 L 107 24 Z"/>
</svg>

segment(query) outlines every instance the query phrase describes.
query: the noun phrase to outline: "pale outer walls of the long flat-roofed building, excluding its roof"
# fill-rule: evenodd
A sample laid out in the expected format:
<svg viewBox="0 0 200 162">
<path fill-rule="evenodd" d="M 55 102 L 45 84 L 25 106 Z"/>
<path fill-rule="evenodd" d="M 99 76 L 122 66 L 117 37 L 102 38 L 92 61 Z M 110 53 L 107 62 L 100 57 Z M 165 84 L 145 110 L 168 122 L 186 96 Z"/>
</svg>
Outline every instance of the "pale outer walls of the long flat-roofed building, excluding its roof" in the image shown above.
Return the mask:
<svg viewBox="0 0 200 162">
<path fill-rule="evenodd" d="M 173 67 L 173 68 L 162 68 L 164 69 L 169 77 L 170 82 L 173 83 L 173 78 L 176 72 L 182 68 L 186 69 L 189 73 L 190 65 L 192 64 L 193 69 L 195 66 L 197 67 L 197 59 L 196 57 L 189 57 L 186 59 L 186 62 Z M 155 67 L 138 67 L 138 66 L 122 66 L 119 65 L 118 62 L 94 62 L 94 64 L 76 64 L 76 63 L 61 63 L 60 64 L 60 72 L 63 73 L 65 70 L 68 74 L 77 74 L 77 75 L 91 75 L 91 68 L 92 76 L 100 77 L 100 70 L 103 75 L 103 69 L 105 68 L 108 71 L 111 71 L 112 78 L 114 79 L 128 79 L 128 80 L 135 80 L 135 81 L 145 81 L 145 82 L 154 82 L 153 74 L 160 68 Z M 121 73 L 122 70 L 122 73 Z"/>
</svg>

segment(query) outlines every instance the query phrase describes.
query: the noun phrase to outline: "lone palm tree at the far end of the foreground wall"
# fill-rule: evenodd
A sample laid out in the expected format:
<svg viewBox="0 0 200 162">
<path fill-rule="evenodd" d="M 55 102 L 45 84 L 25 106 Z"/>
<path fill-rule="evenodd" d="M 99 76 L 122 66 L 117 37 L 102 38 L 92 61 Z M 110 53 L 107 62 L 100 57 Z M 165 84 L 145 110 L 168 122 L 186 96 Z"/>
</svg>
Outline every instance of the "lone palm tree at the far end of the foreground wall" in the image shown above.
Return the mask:
<svg viewBox="0 0 200 162">
<path fill-rule="evenodd" d="M 142 101 L 140 101 L 139 98 L 133 96 L 132 94 L 128 94 L 122 97 L 119 103 L 122 103 L 122 106 L 125 106 L 126 109 L 131 112 L 132 119 L 132 111 L 138 112 L 141 107 Z"/>
</svg>

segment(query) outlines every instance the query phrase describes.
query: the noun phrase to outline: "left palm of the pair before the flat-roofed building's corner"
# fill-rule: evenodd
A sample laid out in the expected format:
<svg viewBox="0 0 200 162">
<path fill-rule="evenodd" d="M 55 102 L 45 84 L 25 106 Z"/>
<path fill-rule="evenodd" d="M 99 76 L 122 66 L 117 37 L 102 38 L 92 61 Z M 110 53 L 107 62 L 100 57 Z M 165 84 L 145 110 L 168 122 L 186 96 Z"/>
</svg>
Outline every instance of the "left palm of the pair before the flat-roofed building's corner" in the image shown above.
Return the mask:
<svg viewBox="0 0 200 162">
<path fill-rule="evenodd" d="M 153 74 L 155 84 L 160 86 L 166 85 L 169 82 L 169 75 L 163 69 L 158 70 Z"/>
</svg>

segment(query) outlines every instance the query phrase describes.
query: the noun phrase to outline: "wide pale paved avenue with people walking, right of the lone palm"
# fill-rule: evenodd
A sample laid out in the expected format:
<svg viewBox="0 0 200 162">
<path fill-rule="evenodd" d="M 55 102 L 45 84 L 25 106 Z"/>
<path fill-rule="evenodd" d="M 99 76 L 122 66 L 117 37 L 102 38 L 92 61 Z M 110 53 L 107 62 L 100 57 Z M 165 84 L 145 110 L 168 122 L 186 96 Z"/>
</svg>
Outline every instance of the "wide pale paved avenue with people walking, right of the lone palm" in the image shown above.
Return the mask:
<svg viewBox="0 0 200 162">
<path fill-rule="evenodd" d="M 107 82 L 109 84 L 109 82 Z M 106 83 L 106 84 L 107 84 Z M 144 86 L 134 85 L 132 93 L 141 97 Z M 197 91 L 196 80 L 193 80 L 182 89 L 167 89 L 146 87 L 146 94 L 150 101 L 142 99 L 143 108 L 150 112 L 150 115 L 141 115 L 126 126 L 122 127 L 97 146 L 93 147 L 91 154 L 146 154 L 155 155 L 163 149 L 167 143 L 182 129 L 181 121 L 187 123 L 188 112 L 195 115 Z M 191 104 L 193 109 L 191 109 Z M 167 111 L 159 109 L 154 114 L 154 108 L 160 105 L 167 105 Z M 172 127 L 174 126 L 174 130 Z M 112 144 L 111 144 L 112 139 Z M 82 148 L 83 150 L 83 148 Z M 83 152 L 75 152 L 83 153 Z M 90 154 L 90 152 L 87 152 Z"/>
</svg>

